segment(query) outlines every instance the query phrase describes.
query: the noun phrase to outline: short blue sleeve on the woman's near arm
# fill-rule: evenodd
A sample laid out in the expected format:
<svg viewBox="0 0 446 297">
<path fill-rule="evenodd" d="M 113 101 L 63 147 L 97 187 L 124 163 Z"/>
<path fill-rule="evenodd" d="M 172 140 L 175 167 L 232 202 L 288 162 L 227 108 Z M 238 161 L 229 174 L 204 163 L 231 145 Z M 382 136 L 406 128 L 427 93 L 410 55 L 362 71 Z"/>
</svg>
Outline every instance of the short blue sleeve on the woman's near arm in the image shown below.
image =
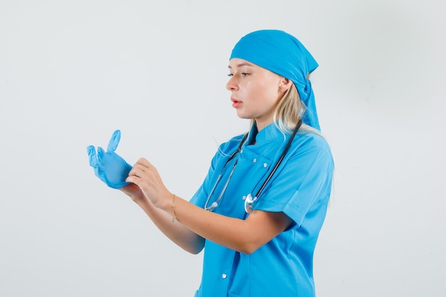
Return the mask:
<svg viewBox="0 0 446 297">
<path fill-rule="evenodd" d="M 281 170 L 271 180 L 254 209 L 284 212 L 297 226 L 309 209 L 331 194 L 333 157 L 320 136 L 306 137 L 289 153 Z"/>
</svg>

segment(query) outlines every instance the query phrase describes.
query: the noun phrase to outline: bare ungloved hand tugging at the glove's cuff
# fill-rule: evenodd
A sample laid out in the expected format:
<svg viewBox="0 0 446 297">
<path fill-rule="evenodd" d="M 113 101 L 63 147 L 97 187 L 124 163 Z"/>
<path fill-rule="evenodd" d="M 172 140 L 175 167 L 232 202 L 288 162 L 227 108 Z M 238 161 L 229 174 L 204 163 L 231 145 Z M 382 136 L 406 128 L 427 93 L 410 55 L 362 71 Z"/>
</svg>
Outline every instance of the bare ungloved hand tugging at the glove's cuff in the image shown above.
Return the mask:
<svg viewBox="0 0 446 297">
<path fill-rule="evenodd" d="M 163 184 L 155 166 L 150 164 L 145 158 L 140 158 L 133 165 L 125 182 L 133 182 L 133 184 L 136 184 L 144 196 L 158 208 L 167 207 L 167 203 L 169 203 L 167 200 L 172 197 L 172 194 Z"/>
</svg>

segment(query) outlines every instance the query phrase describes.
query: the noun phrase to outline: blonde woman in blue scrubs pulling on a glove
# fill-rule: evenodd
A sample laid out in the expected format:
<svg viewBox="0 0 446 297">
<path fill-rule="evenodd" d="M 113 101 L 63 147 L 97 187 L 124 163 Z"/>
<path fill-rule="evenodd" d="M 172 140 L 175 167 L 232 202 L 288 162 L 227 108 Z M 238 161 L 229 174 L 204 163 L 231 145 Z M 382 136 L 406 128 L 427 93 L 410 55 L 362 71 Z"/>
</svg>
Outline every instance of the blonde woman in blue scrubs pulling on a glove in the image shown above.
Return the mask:
<svg viewBox="0 0 446 297">
<path fill-rule="evenodd" d="M 331 194 L 333 158 L 318 132 L 308 75 L 318 66 L 294 36 L 244 36 L 229 59 L 232 106 L 251 130 L 220 145 L 190 202 L 153 165 L 131 167 L 114 150 L 88 147 L 90 165 L 128 194 L 186 251 L 204 249 L 195 296 L 314 296 L 313 251 Z"/>
</svg>

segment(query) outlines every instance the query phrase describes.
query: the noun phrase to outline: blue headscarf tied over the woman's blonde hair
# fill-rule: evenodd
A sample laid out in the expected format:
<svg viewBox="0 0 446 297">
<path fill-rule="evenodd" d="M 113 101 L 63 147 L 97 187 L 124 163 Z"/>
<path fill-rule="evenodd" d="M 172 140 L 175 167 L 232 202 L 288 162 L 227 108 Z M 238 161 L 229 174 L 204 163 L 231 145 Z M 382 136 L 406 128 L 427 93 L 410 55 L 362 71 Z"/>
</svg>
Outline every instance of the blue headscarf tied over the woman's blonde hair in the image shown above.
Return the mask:
<svg viewBox="0 0 446 297">
<path fill-rule="evenodd" d="M 279 30 L 254 31 L 234 46 L 229 59 L 232 58 L 241 58 L 291 80 L 306 105 L 302 121 L 321 130 L 313 88 L 307 79 L 318 63 L 296 37 Z"/>
</svg>

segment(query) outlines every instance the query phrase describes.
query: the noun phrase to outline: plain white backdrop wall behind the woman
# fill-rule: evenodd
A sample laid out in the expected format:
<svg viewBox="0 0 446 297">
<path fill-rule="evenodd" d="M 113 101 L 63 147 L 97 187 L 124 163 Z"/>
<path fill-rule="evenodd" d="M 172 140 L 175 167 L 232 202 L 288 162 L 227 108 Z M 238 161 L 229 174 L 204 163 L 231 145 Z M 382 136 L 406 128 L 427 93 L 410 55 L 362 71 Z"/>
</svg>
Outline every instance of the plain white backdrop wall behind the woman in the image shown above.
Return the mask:
<svg viewBox="0 0 446 297">
<path fill-rule="evenodd" d="M 225 90 L 232 46 L 278 28 L 313 73 L 335 190 L 318 297 L 445 296 L 442 1 L 0 1 L 0 296 L 193 296 L 187 254 L 88 165 L 149 159 L 189 198 L 248 129 Z"/>
</svg>

